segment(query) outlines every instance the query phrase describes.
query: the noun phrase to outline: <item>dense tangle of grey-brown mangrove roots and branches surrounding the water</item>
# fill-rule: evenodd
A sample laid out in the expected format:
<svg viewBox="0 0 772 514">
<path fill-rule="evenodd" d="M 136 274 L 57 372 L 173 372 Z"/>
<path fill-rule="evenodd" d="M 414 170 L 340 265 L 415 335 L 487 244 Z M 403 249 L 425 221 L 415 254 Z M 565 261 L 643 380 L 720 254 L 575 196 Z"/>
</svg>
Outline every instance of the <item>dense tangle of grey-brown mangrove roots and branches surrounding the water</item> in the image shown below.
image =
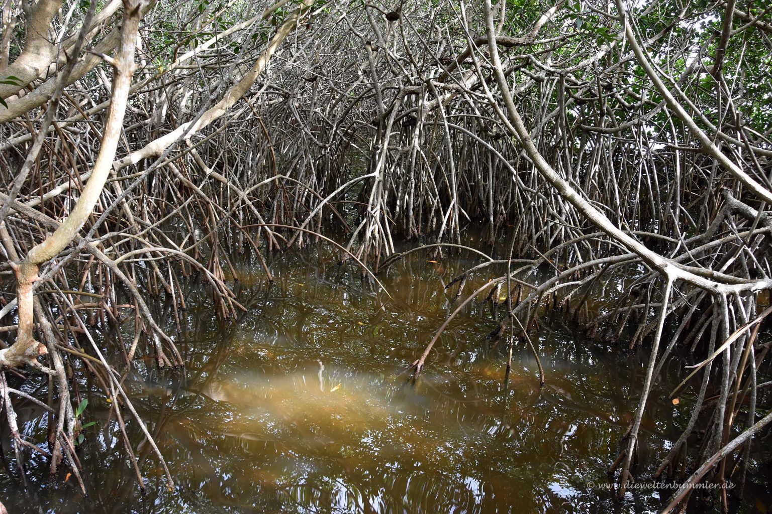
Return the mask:
<svg viewBox="0 0 772 514">
<path fill-rule="evenodd" d="M 657 475 L 692 459 L 689 482 L 743 481 L 752 437 L 770 421 L 760 338 L 772 287 L 769 9 L 2 5 L 0 396 L 22 479 L 26 452 L 79 477 L 82 373 L 121 398 L 115 418 L 139 475 L 124 418 L 144 425 L 122 376 L 139 355 L 183 364 L 144 294 L 183 323 L 181 281 L 195 275 L 218 315 L 235 317 L 234 252 L 254 254 L 270 279 L 261 252 L 334 229 L 341 259 L 363 276 L 400 257 L 397 237 L 479 254 L 454 281 L 458 296 L 471 274 L 493 280 L 458 308 L 506 297 L 492 329 L 510 344 L 530 343 L 550 304 L 598 338 L 650 348 L 611 465 L 620 498 L 650 386 L 670 354 L 695 354 L 682 385 L 696 391 L 693 414 Z M 481 247 L 462 247 L 463 230 Z M 505 255 L 493 256 L 496 243 Z M 618 277 L 624 291 L 598 307 L 594 291 Z M 114 330 L 127 320 L 133 340 Z M 40 372 L 52 390 L 33 401 L 50 411 L 49 438 L 32 442 L 6 377 Z"/>
</svg>

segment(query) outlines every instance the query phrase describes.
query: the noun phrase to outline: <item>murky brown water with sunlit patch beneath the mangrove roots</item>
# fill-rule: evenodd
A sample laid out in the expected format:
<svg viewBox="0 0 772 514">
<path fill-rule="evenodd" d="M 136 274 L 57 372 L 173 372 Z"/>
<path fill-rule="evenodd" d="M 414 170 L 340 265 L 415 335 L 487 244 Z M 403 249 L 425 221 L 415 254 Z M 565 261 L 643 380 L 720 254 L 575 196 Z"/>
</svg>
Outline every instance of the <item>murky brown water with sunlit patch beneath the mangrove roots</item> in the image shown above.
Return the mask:
<svg viewBox="0 0 772 514">
<path fill-rule="evenodd" d="M 31 459 L 31 496 L 12 469 L 0 476 L 10 512 L 653 512 L 667 492 L 645 490 L 618 504 L 605 470 L 645 374 L 648 356 L 623 354 L 574 332 L 563 314 L 537 330 L 547 385 L 522 344 L 505 384 L 505 344 L 486 338 L 496 325 L 476 302 L 449 325 L 425 373 L 405 367 L 455 309 L 445 284 L 478 264 L 452 257 L 432 263 L 413 254 L 381 277 L 392 296 L 337 266 L 325 248 L 274 257 L 269 287 L 256 263 L 239 265 L 239 301 L 249 312 L 218 324 L 210 296 L 185 284 L 188 311 L 177 338 L 186 374 L 139 359 L 127 378 L 174 475 L 168 491 L 159 462 L 128 423 L 147 485 L 141 496 L 108 404 L 90 396 L 81 445 L 89 496 L 74 479 L 46 481 Z M 490 277 L 494 275 L 491 274 Z M 484 283 L 476 277 L 466 293 Z M 159 301 L 161 311 L 164 302 Z M 168 328 L 174 327 L 168 305 Z M 655 468 L 686 424 L 669 385 L 684 362 L 665 367 L 641 434 L 641 465 Z M 87 389 L 86 381 L 81 387 Z M 36 383 L 25 388 L 35 391 Z M 34 408 L 19 402 L 29 415 Z M 25 425 L 36 441 L 43 416 Z M 5 455 L 12 455 L 4 438 Z M 63 472 L 64 473 L 64 472 Z M 749 488 L 754 501 L 768 498 Z M 753 509 L 748 512 L 754 512 Z"/>
</svg>

